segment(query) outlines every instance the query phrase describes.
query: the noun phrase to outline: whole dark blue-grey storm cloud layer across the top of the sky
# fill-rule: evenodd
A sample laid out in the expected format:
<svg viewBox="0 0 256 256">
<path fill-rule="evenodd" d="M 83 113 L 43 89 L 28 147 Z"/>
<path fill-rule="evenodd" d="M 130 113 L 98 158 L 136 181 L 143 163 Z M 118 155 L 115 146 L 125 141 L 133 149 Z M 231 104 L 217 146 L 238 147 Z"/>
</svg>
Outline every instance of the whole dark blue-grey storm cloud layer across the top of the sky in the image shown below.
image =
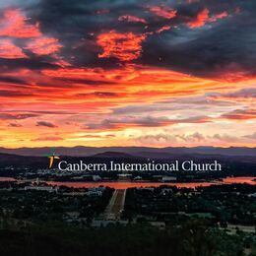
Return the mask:
<svg viewBox="0 0 256 256">
<path fill-rule="evenodd" d="M 147 34 L 143 55 L 135 62 L 165 67 L 197 76 L 212 77 L 223 72 L 246 70 L 255 74 L 256 3 L 255 1 L 135 1 L 135 0 L 41 0 L 30 1 L 26 12 L 32 23 L 39 22 L 41 32 L 54 36 L 63 45 L 61 55 L 75 67 L 116 67 L 115 58 L 98 58 L 102 51 L 96 43 L 101 32 Z M 32 4 L 34 3 L 34 4 Z M 149 10 L 163 6 L 176 10 L 173 19 L 164 19 Z M 210 17 L 226 12 L 228 17 L 191 29 L 203 10 Z M 125 22 L 119 17 L 130 15 L 143 23 Z M 210 20 L 209 20 L 210 21 Z M 164 26 L 167 31 L 158 33 Z M 210 27 L 211 26 L 211 27 Z M 57 68 L 50 59 L 0 60 L 10 68 Z M 247 74 L 248 74 L 247 73 Z M 87 81 L 86 83 L 87 84 Z"/>
</svg>

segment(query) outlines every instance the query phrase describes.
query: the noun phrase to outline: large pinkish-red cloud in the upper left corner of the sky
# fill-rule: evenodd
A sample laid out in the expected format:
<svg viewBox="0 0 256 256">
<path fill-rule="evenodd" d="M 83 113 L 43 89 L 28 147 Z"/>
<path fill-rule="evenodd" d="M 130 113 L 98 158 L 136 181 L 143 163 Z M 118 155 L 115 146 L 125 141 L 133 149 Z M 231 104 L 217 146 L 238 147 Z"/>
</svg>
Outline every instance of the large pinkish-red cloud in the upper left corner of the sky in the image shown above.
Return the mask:
<svg viewBox="0 0 256 256">
<path fill-rule="evenodd" d="M 39 25 L 37 23 L 35 25 L 28 24 L 28 21 L 29 19 L 22 14 L 21 10 L 7 10 L 0 21 L 0 35 L 15 38 L 40 36 Z"/>
</svg>

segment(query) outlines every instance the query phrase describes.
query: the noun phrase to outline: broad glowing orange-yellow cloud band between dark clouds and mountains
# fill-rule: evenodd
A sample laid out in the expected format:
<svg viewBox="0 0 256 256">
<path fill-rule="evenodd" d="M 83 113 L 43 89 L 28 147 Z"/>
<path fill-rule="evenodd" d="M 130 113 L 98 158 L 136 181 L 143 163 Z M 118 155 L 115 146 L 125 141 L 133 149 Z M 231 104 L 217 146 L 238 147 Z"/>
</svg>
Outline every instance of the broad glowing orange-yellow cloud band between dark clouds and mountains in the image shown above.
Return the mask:
<svg viewBox="0 0 256 256">
<path fill-rule="evenodd" d="M 7 84 L 7 77 L 10 83 L 18 83 L 15 78 L 19 78 L 21 83 L 29 83 L 26 86 Z M 255 80 L 250 83 L 254 85 Z M 58 133 L 56 136 L 63 138 L 58 140 L 59 145 L 70 147 L 78 142 L 95 146 L 116 146 L 120 142 L 132 145 L 131 135 L 140 136 L 146 131 L 154 134 L 157 129 L 152 127 L 158 127 L 160 131 L 181 129 L 180 132 L 185 134 L 202 127 L 201 131 L 215 127 L 216 131 L 222 132 L 222 123 L 226 121 L 230 127 L 234 122 L 245 127 L 244 134 L 249 134 L 252 124 L 246 128 L 244 123 L 255 116 L 252 110 L 232 112 L 234 104 L 230 107 L 230 104 L 222 105 L 220 102 L 221 107 L 215 107 L 219 102 L 207 102 L 203 97 L 207 93 L 211 96 L 211 92 L 232 92 L 234 83 L 130 63 L 110 70 L 66 67 L 41 72 L 13 71 L 1 74 L 0 86 L 2 91 L 10 91 L 11 86 L 14 88 L 12 92 L 0 92 L 0 105 L 4 105 L 0 113 L 0 129 L 8 138 L 2 145 L 7 147 L 18 147 L 17 141 L 10 138 L 22 138 L 25 140 L 23 145 L 28 147 L 33 145 L 33 140 L 38 146 L 54 145 L 56 142 L 47 139 L 55 136 L 52 130 Z M 237 90 L 244 88 L 244 82 L 235 83 L 235 87 Z M 242 91 L 239 95 L 251 93 Z M 190 96 L 198 98 L 194 102 Z M 138 111 L 134 112 L 132 109 L 137 105 Z M 149 110 L 146 109 L 148 106 Z M 21 126 L 7 129 L 7 122 L 14 123 L 16 120 Z M 47 132 L 45 127 L 49 127 L 48 134 L 44 134 Z M 97 135 L 106 131 L 115 136 L 100 140 L 81 139 L 85 133 Z M 227 132 L 230 131 L 231 128 L 228 128 Z M 195 145 L 191 142 L 191 146 Z"/>
</svg>

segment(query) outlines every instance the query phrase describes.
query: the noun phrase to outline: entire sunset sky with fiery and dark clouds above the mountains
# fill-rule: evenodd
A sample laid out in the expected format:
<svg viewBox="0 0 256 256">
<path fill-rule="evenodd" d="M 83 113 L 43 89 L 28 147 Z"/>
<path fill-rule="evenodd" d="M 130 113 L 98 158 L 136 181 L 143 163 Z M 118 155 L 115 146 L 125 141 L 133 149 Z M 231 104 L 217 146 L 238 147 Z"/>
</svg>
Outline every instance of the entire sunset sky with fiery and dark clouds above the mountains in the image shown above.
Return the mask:
<svg viewBox="0 0 256 256">
<path fill-rule="evenodd" d="M 256 1 L 0 0 L 0 147 L 256 146 Z"/>
</svg>

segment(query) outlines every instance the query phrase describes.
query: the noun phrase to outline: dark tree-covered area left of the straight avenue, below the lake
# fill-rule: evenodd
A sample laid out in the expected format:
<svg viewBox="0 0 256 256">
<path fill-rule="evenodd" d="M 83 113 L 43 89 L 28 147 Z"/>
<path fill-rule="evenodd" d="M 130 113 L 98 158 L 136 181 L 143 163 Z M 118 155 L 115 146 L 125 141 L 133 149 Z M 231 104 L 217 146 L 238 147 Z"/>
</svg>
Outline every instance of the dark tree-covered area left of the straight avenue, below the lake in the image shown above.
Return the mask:
<svg viewBox="0 0 256 256">
<path fill-rule="evenodd" d="M 106 208 L 113 189 L 106 188 L 98 197 L 77 195 L 78 189 L 66 194 L 64 191 L 0 191 L 0 217 L 31 222 L 61 221 L 67 213 L 76 212 L 81 218 L 94 218 Z"/>
</svg>

